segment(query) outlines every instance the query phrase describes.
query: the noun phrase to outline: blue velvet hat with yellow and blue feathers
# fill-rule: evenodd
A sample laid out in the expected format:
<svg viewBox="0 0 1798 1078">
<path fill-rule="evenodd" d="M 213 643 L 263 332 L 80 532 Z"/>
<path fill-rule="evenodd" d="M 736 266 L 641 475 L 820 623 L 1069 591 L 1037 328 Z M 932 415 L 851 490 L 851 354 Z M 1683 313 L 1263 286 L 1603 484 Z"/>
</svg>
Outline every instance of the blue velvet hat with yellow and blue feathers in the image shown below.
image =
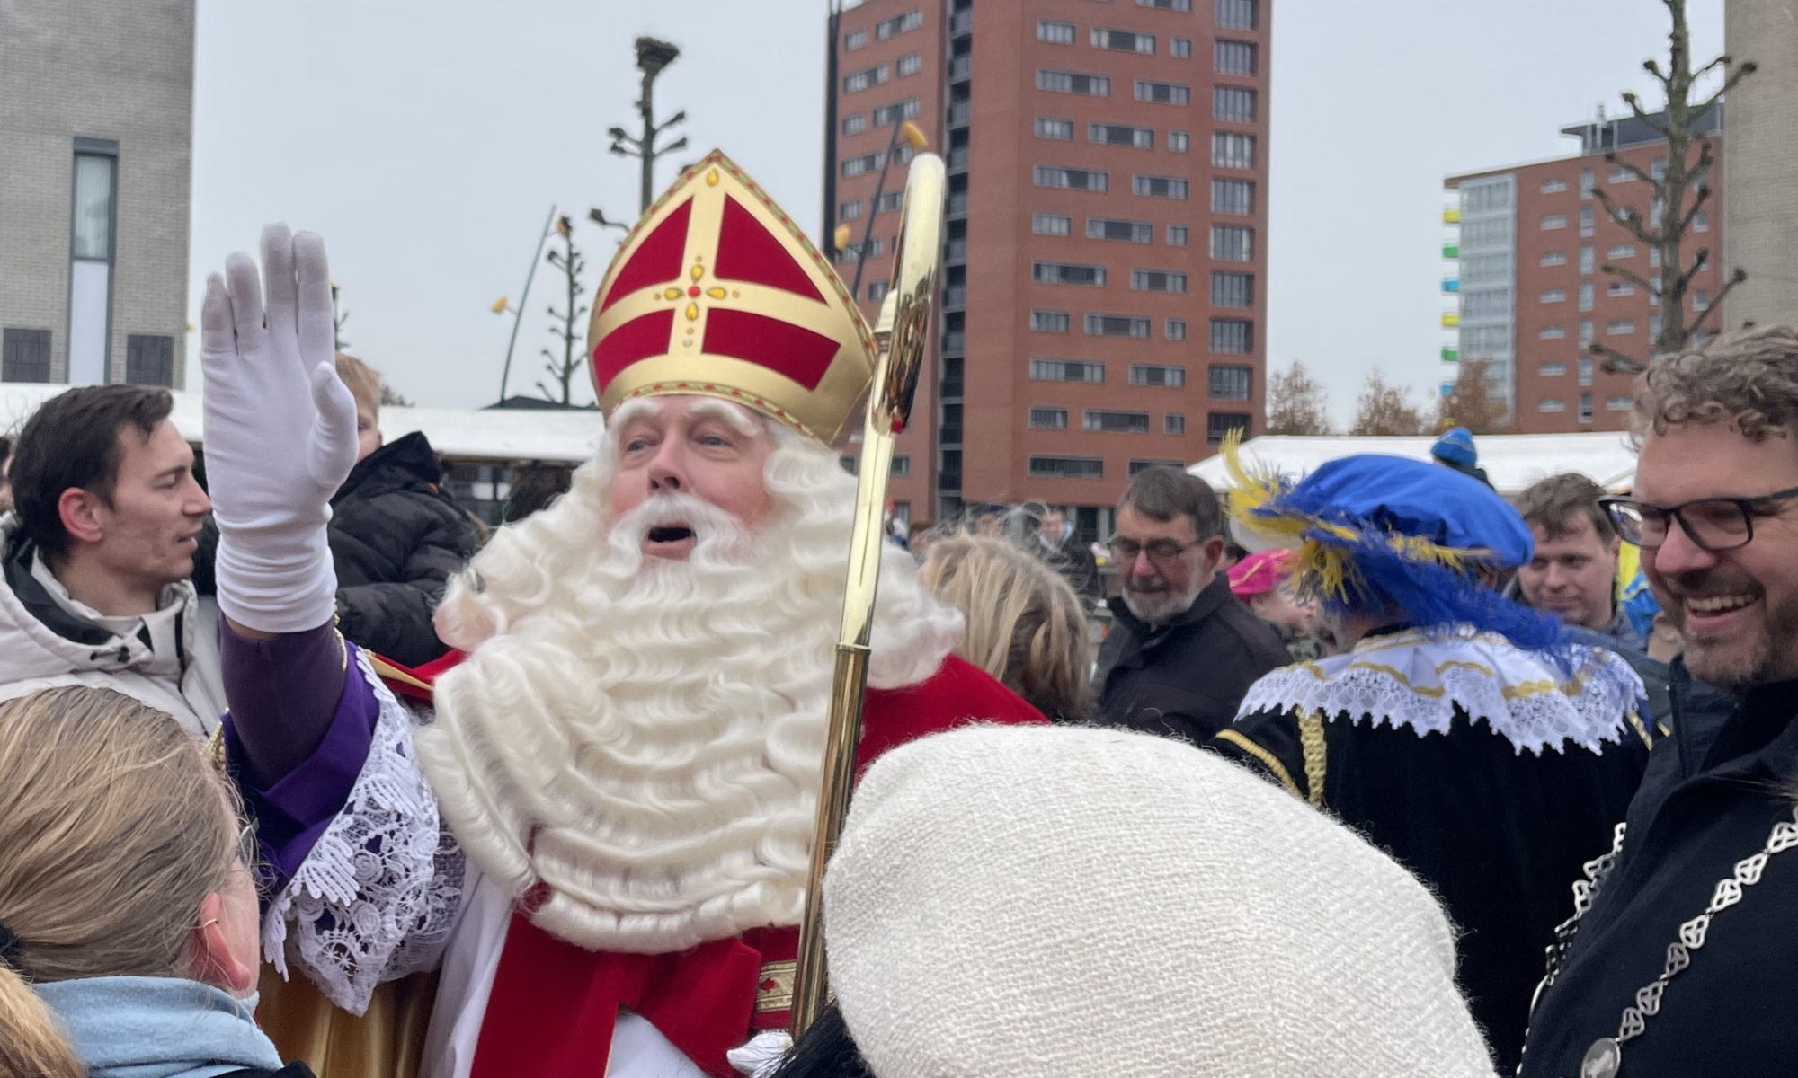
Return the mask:
<svg viewBox="0 0 1798 1078">
<path fill-rule="evenodd" d="M 1474 570 L 1514 570 L 1535 553 L 1530 526 L 1485 483 L 1402 456 L 1332 460 L 1291 482 L 1251 474 L 1224 447 L 1230 516 L 1244 546 L 1287 546 L 1295 586 L 1332 613 L 1388 604 L 1420 629 L 1473 625 L 1528 650 L 1557 650 L 1561 622 L 1514 604 Z"/>
</svg>

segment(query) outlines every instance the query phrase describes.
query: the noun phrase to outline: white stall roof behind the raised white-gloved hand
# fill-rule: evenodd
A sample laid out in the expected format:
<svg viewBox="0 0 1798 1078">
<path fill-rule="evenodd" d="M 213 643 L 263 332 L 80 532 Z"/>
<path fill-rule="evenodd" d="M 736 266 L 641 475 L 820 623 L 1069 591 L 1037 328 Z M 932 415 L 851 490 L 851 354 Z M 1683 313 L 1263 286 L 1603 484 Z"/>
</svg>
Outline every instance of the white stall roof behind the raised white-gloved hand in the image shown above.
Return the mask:
<svg viewBox="0 0 1798 1078">
<path fill-rule="evenodd" d="M 0 383 L 0 431 L 18 431 L 40 404 L 67 384 Z M 174 428 L 203 440 L 200 393 L 174 392 Z M 606 420 L 593 410 L 381 408 L 381 435 L 392 442 L 424 431 L 451 460 L 541 460 L 581 464 L 593 455 Z"/>
</svg>

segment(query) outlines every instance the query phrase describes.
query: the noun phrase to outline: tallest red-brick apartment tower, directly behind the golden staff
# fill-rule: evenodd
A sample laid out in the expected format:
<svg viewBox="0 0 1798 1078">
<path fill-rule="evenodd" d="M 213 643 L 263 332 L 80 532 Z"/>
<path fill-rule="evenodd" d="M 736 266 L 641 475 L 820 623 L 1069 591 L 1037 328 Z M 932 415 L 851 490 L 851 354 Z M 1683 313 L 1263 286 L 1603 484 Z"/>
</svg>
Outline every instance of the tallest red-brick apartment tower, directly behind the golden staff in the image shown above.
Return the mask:
<svg viewBox="0 0 1798 1078">
<path fill-rule="evenodd" d="M 868 237 L 870 318 L 910 160 L 886 160 L 894 124 L 915 122 L 949 165 L 942 329 L 894 465 L 908 519 L 1036 499 L 1102 539 L 1135 469 L 1260 426 L 1271 14 L 1271 0 L 832 14 L 822 232 L 850 228 L 845 280 Z"/>
</svg>

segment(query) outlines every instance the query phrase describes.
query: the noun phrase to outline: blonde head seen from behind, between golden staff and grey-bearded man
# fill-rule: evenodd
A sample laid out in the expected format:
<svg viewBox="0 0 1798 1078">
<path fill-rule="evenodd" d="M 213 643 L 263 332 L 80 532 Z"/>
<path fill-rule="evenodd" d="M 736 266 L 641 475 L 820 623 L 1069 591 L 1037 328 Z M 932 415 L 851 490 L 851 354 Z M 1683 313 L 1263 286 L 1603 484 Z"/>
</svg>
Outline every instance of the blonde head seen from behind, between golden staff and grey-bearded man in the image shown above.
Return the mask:
<svg viewBox="0 0 1798 1078">
<path fill-rule="evenodd" d="M 948 535 L 930 544 L 919 579 L 967 618 L 955 654 L 1054 722 L 1086 719 L 1086 614 L 1061 573 L 1005 539 Z"/>
</svg>

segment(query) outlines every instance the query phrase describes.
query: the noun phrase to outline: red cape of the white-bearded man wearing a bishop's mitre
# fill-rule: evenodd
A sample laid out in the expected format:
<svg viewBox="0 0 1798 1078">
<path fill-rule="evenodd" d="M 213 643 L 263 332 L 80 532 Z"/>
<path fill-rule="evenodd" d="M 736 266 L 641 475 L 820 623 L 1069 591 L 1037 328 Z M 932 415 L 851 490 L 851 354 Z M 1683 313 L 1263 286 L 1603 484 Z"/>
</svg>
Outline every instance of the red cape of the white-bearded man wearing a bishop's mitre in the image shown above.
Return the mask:
<svg viewBox="0 0 1798 1078">
<path fill-rule="evenodd" d="M 450 652 L 408 670 L 376 659 L 406 697 L 430 701 Z M 978 667 L 949 656 L 926 681 L 870 688 L 861 715 L 859 774 L 881 753 L 966 722 L 1046 722 Z M 793 1001 L 798 929 L 755 929 L 680 954 L 592 952 L 530 923 L 518 907 L 482 1019 L 471 1078 L 590 1078 L 611 1056 L 619 1008 L 649 1019 L 707 1074 L 728 1078 L 725 1053 L 759 1029 L 784 1029 Z M 602 1065 L 602 1064 L 601 1064 Z"/>
</svg>

